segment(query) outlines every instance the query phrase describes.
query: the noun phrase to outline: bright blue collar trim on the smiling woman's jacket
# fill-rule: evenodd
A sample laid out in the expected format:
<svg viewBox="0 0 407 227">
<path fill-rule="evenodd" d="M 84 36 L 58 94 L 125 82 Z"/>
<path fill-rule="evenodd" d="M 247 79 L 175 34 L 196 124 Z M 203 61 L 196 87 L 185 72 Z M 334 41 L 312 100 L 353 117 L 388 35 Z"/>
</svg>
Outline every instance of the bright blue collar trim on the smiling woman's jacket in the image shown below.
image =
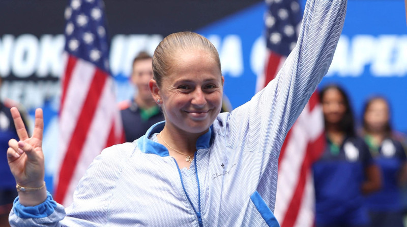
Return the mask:
<svg viewBox="0 0 407 227">
<path fill-rule="evenodd" d="M 165 121 L 158 122 L 151 126 L 151 128 L 146 132 L 146 135 L 141 136 L 137 140 L 137 146 L 141 150 L 141 152 L 146 154 L 155 154 L 161 157 L 169 156 L 168 149 L 157 142 L 149 139 L 151 135 L 155 133 L 160 133 L 161 130 L 164 128 Z M 199 136 L 198 140 L 196 141 L 196 149 L 203 149 L 209 148 L 212 143 L 213 138 L 213 126 L 211 126 L 205 134 Z"/>
</svg>

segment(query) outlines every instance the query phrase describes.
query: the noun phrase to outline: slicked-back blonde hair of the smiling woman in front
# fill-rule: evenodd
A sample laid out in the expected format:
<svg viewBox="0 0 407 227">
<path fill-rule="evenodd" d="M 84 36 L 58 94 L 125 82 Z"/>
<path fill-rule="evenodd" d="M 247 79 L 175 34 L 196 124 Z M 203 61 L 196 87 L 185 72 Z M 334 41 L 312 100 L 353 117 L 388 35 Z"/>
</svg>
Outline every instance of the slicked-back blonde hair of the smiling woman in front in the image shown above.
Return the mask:
<svg viewBox="0 0 407 227">
<path fill-rule="evenodd" d="M 162 78 L 170 72 L 173 66 L 171 64 L 175 60 L 173 54 L 180 50 L 188 51 L 192 49 L 210 53 L 219 66 L 219 71 L 221 71 L 218 51 L 206 37 L 190 31 L 172 33 L 158 44 L 153 55 L 154 80 L 159 87 L 161 87 Z"/>
</svg>

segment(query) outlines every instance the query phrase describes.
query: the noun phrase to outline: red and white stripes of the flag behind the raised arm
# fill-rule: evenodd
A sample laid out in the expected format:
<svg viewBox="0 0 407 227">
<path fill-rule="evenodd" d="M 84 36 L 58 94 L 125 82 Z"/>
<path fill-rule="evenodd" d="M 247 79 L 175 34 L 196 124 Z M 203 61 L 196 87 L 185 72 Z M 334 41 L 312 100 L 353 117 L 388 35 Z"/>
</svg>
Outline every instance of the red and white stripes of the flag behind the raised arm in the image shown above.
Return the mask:
<svg viewBox="0 0 407 227">
<path fill-rule="evenodd" d="M 258 79 L 258 89 L 274 79 L 285 59 L 285 56 L 268 51 L 265 75 Z M 280 151 L 274 215 L 281 227 L 314 226 L 311 165 L 322 154 L 324 146 L 324 116 L 314 92 L 285 137 Z"/>
</svg>

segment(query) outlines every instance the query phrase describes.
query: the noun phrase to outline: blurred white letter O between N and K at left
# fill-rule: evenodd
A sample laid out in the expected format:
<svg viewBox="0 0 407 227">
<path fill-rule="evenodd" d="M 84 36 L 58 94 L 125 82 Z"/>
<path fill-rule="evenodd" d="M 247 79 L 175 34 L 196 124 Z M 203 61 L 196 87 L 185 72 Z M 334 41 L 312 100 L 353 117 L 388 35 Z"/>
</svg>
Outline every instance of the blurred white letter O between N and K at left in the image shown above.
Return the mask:
<svg viewBox="0 0 407 227">
<path fill-rule="evenodd" d="M 22 34 L 15 41 L 12 53 L 12 71 L 18 78 L 26 78 L 34 73 L 38 60 L 38 39 L 32 34 Z"/>
</svg>

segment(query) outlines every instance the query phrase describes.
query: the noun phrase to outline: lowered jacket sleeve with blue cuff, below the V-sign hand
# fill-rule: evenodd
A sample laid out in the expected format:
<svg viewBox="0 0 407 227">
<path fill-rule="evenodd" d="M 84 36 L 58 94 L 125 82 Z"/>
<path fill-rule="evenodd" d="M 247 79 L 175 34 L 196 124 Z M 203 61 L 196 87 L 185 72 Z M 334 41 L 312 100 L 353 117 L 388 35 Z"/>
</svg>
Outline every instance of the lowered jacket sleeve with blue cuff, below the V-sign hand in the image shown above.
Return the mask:
<svg viewBox="0 0 407 227">
<path fill-rule="evenodd" d="M 126 160 L 133 154 L 133 143 L 105 148 L 79 181 L 73 203 L 64 208 L 47 199 L 34 207 L 22 206 L 18 197 L 9 215 L 11 226 L 103 226 L 108 222 L 108 205 Z"/>
</svg>

